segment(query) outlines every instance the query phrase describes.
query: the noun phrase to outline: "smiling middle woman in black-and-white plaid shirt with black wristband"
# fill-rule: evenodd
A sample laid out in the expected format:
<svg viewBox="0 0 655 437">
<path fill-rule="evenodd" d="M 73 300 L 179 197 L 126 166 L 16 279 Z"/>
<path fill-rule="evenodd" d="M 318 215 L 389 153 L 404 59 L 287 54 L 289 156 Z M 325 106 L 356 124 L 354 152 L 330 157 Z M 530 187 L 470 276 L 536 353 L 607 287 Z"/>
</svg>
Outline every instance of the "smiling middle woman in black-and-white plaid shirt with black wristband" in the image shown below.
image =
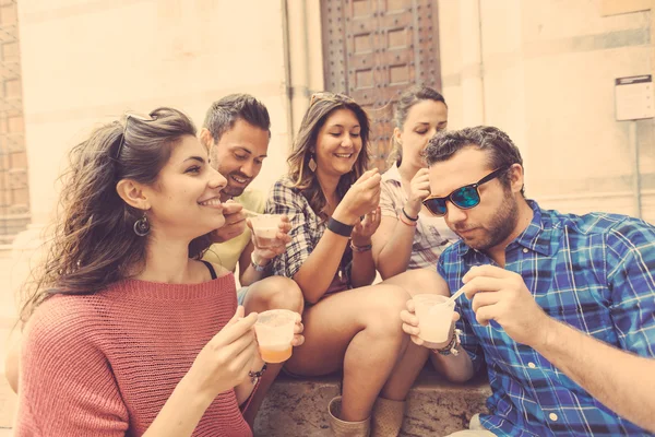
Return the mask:
<svg viewBox="0 0 655 437">
<path fill-rule="evenodd" d="M 370 285 L 381 188 L 378 169 L 366 172 L 368 138 L 368 116 L 353 99 L 314 94 L 289 173 L 273 187 L 266 211 L 291 223 L 291 244 L 274 260 L 274 274 L 293 277 L 307 302 L 306 342 L 285 369 L 305 376 L 343 369 L 343 399 L 329 405 L 336 435 L 368 436 L 372 412 L 372 435 L 396 436 L 428 355 L 401 329 L 406 290 L 445 295 L 448 288 L 427 270 Z"/>
</svg>

